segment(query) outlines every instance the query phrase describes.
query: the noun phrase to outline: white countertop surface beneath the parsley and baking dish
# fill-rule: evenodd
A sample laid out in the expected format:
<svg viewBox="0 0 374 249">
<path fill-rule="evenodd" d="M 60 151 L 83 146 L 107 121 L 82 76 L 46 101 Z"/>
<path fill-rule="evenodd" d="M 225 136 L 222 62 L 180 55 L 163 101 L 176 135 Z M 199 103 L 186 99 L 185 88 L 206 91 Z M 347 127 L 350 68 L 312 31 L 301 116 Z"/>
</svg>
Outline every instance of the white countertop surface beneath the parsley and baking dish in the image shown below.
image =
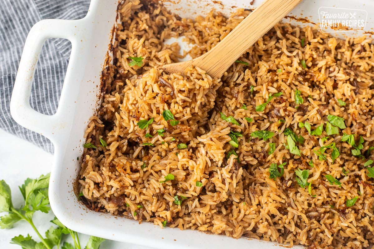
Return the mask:
<svg viewBox="0 0 374 249">
<path fill-rule="evenodd" d="M 45 152 L 39 147 L 28 141 L 22 140 L 12 134 L 0 129 L 0 180 L 5 180 L 12 191 L 13 205 L 18 207 L 24 202 L 18 186 L 22 185 L 26 178 L 37 178 L 42 174 L 50 172 L 53 155 Z M 1 213 L 0 216 L 6 213 Z M 41 234 L 52 225 L 49 221 L 54 217 L 50 211 L 48 214 L 36 212 L 33 221 Z M 0 248 L 20 249 L 21 246 L 10 244 L 10 240 L 22 234 L 33 237 L 39 242 L 39 237 L 25 221 L 19 221 L 12 229 L 0 230 Z M 82 248 L 85 247 L 89 236 L 80 234 L 79 239 Z M 72 240 L 71 240 L 72 241 Z M 70 242 L 71 242 L 70 241 Z M 128 243 L 114 242 L 106 240 L 100 246 L 100 249 L 151 249 L 143 246 L 132 245 Z"/>
</svg>

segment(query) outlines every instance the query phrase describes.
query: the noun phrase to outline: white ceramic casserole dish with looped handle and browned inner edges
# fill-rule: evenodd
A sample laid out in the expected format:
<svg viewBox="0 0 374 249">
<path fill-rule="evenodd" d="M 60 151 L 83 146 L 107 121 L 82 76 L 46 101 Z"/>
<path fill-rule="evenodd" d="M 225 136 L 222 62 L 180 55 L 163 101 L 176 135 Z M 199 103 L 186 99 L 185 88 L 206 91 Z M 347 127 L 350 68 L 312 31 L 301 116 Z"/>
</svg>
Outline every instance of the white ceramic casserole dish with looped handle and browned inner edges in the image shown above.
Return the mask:
<svg viewBox="0 0 374 249">
<path fill-rule="evenodd" d="M 165 6 L 182 17 L 194 18 L 197 14 L 208 13 L 213 7 L 229 15 L 237 7 L 253 8 L 261 1 L 255 0 L 254 5 L 250 5 L 249 0 L 221 0 L 221 3 L 209 0 L 177 0 L 177 3 L 165 1 Z M 31 29 L 25 43 L 10 109 L 16 122 L 46 136 L 55 146 L 49 199 L 56 217 L 67 227 L 81 233 L 152 248 L 178 246 L 180 249 L 227 249 L 233 245 L 237 248 L 283 248 L 272 242 L 255 239 L 234 240 L 199 231 L 181 231 L 167 227 L 160 229 L 148 222 L 138 224 L 134 220 L 91 211 L 77 200 L 73 191 L 81 163 L 80 160 L 77 161 L 77 156 L 80 157 L 83 152 L 83 134 L 88 120 L 100 104 L 101 71 L 106 66 L 104 61 L 109 55 L 108 44 L 112 42 L 117 4 L 118 0 L 92 0 L 89 12 L 83 19 L 40 21 Z M 368 18 L 364 31 L 337 32 L 335 35 L 363 35 L 365 31 L 373 31 L 374 22 L 370 17 L 374 16 L 374 1 L 305 0 L 289 15 L 319 23 L 320 7 L 358 9 L 360 15 L 365 15 L 361 10 L 367 11 Z M 198 13 L 196 10 L 199 10 Z M 301 26 L 311 25 L 292 18 L 283 21 Z M 34 111 L 29 104 L 39 53 L 48 38 L 66 38 L 72 44 L 58 110 L 52 116 Z"/>
</svg>

